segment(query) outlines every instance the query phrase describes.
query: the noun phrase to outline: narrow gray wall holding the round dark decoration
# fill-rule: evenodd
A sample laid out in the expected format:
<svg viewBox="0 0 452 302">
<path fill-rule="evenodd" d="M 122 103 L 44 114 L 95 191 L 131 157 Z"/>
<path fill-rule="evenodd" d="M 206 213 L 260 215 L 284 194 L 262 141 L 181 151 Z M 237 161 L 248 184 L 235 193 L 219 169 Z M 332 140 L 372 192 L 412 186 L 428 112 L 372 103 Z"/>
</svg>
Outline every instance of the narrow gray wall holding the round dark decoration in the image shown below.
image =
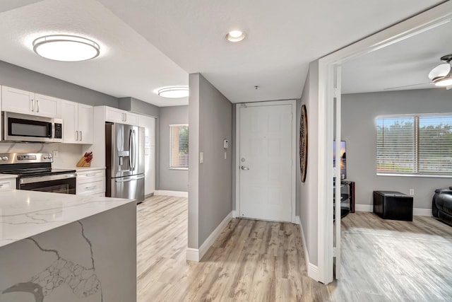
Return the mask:
<svg viewBox="0 0 452 302">
<path fill-rule="evenodd" d="M 297 104 L 297 108 L 301 109 L 301 105 L 306 105 L 308 120 L 308 163 L 306 170 L 306 180 L 301 182 L 299 171 L 297 172 L 297 202 L 299 203 L 299 217 L 302 222 L 304 238 L 306 240 L 307 250 L 309 253 L 309 262 L 318 265 L 319 257 L 319 238 L 318 238 L 318 208 L 317 208 L 317 191 L 318 191 L 318 144 L 317 133 L 319 132 L 319 61 L 309 64 L 307 79 L 304 83 L 301 103 Z M 300 112 L 297 112 L 299 120 Z M 299 125 L 298 125 L 299 132 Z M 299 133 L 297 134 L 299 137 Z M 299 145 L 299 144 L 297 144 Z M 299 147 L 297 148 L 299 151 Z M 297 156 L 297 164 L 299 167 L 299 156 Z M 297 169 L 299 170 L 299 169 Z"/>
</svg>

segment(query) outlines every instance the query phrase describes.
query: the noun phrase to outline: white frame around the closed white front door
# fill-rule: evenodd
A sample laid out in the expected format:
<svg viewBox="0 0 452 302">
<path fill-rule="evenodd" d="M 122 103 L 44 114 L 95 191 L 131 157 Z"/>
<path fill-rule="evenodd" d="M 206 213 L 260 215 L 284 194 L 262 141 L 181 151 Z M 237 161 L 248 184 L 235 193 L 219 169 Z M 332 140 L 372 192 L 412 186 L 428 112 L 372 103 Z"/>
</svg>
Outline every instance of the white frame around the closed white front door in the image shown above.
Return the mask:
<svg viewBox="0 0 452 302">
<path fill-rule="evenodd" d="M 297 152 L 296 152 L 296 139 L 297 139 L 297 100 L 273 100 L 265 102 L 253 102 L 253 103 L 237 103 L 235 104 L 235 211 L 233 211 L 234 217 L 239 217 L 240 213 L 240 108 L 241 107 L 260 107 L 260 106 L 273 106 L 273 105 L 291 105 L 292 106 L 292 169 L 291 169 L 291 186 L 290 192 L 292 215 L 291 222 L 296 223 L 297 205 L 296 199 L 296 165 L 297 165 Z"/>
</svg>

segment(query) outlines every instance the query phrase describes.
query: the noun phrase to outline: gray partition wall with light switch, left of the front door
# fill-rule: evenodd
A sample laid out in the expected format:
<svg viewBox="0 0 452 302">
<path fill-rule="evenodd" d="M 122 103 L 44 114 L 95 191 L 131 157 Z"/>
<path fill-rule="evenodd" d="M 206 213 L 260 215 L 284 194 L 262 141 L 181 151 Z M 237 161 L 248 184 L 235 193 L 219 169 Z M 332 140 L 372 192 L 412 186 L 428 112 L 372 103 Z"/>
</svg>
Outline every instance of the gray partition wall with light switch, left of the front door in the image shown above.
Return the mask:
<svg viewBox="0 0 452 302">
<path fill-rule="evenodd" d="M 199 248 L 232 211 L 232 147 L 223 149 L 223 139 L 232 141 L 232 103 L 201 74 L 191 74 L 189 85 L 189 248 Z M 192 149 L 194 142 L 198 146 Z M 204 153 L 204 163 L 199 163 L 198 152 Z M 196 210 L 198 238 L 194 240 L 191 227 L 196 221 L 191 216 Z"/>
</svg>

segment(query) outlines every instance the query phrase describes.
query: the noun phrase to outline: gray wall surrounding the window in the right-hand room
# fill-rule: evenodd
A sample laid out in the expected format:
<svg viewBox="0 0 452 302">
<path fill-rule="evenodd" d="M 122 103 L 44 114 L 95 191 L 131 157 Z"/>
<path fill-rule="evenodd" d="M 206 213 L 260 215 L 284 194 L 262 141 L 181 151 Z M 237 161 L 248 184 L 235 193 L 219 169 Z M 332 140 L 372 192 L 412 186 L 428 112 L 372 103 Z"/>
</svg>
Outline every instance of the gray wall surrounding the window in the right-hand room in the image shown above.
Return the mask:
<svg viewBox="0 0 452 302">
<path fill-rule="evenodd" d="M 405 194 L 415 190 L 413 207 L 432 209 L 434 189 L 452 185 L 450 178 L 376 175 L 377 115 L 452 112 L 452 91 L 424 89 L 357 93 L 342 97 L 342 137 L 347 141 L 347 180 L 356 183 L 356 203 L 372 204 L 372 191 Z"/>
</svg>

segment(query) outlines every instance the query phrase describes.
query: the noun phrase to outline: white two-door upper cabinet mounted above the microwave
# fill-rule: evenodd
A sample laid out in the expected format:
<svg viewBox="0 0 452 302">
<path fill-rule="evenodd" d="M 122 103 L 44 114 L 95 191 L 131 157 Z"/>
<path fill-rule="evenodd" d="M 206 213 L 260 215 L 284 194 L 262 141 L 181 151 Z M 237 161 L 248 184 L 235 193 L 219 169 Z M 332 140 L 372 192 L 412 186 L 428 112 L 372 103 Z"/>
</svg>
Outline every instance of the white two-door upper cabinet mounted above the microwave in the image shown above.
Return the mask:
<svg viewBox="0 0 452 302">
<path fill-rule="evenodd" d="M 1 87 L 1 97 L 1 110 L 3 111 L 42 117 L 59 117 L 61 115 L 61 99 L 59 98 L 7 86 Z"/>
</svg>

